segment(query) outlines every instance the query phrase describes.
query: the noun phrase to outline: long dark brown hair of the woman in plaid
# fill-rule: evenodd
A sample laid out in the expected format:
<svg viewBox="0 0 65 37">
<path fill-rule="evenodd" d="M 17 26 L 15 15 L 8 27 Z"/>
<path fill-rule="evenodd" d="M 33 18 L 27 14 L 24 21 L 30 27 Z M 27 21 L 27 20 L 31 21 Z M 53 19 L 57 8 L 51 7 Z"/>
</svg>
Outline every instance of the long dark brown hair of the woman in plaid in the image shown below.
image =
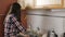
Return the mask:
<svg viewBox="0 0 65 37">
<path fill-rule="evenodd" d="M 14 14 L 14 16 L 16 16 L 17 21 L 21 22 L 21 5 L 17 2 L 12 4 L 10 14 Z"/>
</svg>

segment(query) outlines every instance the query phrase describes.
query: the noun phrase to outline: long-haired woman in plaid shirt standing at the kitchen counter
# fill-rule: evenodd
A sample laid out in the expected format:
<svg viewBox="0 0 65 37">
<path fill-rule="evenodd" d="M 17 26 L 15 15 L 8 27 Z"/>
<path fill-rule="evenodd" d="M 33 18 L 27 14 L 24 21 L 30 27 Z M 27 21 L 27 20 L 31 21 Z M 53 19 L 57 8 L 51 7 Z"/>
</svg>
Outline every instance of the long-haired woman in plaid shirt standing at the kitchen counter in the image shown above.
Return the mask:
<svg viewBox="0 0 65 37">
<path fill-rule="evenodd" d="M 26 29 L 21 25 L 21 5 L 18 3 L 13 3 L 9 14 L 4 20 L 4 37 L 17 37 L 21 33 L 24 37 Z"/>
</svg>

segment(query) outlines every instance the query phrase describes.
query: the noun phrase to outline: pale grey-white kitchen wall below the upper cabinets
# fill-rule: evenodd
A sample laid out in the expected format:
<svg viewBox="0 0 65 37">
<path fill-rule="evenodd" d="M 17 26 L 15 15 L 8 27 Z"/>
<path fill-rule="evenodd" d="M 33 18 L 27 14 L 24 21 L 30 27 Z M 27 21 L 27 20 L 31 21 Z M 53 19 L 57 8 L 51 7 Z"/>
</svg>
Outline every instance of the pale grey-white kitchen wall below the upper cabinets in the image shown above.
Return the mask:
<svg viewBox="0 0 65 37">
<path fill-rule="evenodd" d="M 65 32 L 65 9 L 28 10 L 28 13 L 27 24 L 31 25 L 32 29 L 37 30 L 37 27 L 39 27 L 41 33 L 54 29 L 60 37 Z M 49 16 L 42 16 L 43 14 Z"/>
</svg>

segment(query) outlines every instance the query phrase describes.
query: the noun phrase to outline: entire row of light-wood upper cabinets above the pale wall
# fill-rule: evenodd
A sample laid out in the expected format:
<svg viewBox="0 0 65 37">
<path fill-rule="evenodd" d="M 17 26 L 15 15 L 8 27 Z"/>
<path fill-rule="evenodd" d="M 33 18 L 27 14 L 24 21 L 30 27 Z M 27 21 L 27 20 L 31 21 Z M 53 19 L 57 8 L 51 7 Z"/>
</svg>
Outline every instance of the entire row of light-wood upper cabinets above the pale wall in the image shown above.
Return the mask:
<svg viewBox="0 0 65 37">
<path fill-rule="evenodd" d="M 17 0 L 22 8 L 30 9 L 60 9 L 63 8 L 63 0 Z"/>
</svg>

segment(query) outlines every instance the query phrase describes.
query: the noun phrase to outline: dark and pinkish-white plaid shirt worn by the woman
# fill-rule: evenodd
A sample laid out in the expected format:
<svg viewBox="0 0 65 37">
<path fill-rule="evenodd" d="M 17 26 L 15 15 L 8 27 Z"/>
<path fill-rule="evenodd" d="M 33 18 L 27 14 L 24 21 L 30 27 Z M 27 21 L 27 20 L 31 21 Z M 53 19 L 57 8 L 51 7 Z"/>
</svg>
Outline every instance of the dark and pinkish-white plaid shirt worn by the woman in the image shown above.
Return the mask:
<svg viewBox="0 0 65 37">
<path fill-rule="evenodd" d="M 20 32 L 25 33 L 25 28 L 13 14 L 8 15 L 4 21 L 4 37 L 16 37 Z"/>
</svg>

